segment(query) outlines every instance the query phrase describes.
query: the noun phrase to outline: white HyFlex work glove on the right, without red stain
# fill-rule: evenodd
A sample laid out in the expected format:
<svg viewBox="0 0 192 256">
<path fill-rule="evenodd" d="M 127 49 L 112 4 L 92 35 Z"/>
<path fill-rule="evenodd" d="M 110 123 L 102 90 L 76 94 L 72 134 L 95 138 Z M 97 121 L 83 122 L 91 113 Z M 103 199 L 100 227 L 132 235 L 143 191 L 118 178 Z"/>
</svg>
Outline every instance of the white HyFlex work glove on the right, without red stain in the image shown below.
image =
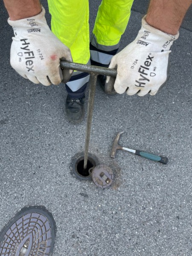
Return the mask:
<svg viewBox="0 0 192 256">
<path fill-rule="evenodd" d="M 117 93 L 155 95 L 168 79 L 169 49 L 179 36 L 166 34 L 148 25 L 145 17 L 137 38 L 113 56 L 109 68 L 117 69 L 115 79 L 107 77 L 106 88 Z"/>
</svg>

